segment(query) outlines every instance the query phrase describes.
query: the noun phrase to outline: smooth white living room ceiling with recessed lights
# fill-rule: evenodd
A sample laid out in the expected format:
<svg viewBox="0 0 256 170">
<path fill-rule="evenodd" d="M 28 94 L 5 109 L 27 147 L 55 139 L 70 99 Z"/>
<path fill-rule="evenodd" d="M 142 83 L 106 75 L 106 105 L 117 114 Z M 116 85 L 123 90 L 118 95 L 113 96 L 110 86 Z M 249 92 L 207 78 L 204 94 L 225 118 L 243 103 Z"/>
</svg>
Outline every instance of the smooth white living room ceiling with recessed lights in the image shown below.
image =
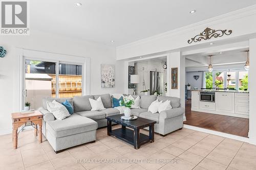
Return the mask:
<svg viewBox="0 0 256 170">
<path fill-rule="evenodd" d="M 118 46 L 253 4 L 255 0 L 37 0 L 30 1 L 30 30 Z M 193 9 L 197 12 L 190 14 Z"/>
</svg>

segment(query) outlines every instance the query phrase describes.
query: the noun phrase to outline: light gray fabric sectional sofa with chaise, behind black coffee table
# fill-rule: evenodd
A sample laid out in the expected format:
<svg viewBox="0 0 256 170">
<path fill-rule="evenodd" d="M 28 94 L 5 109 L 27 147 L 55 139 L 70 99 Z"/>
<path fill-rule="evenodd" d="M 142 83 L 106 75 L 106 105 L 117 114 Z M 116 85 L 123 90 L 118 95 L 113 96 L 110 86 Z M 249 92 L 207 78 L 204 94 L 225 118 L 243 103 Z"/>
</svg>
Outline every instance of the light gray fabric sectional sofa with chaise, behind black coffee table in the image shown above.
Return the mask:
<svg viewBox="0 0 256 170">
<path fill-rule="evenodd" d="M 97 100 L 101 96 L 102 103 L 106 109 L 100 111 L 91 111 L 89 99 Z M 136 96 L 134 96 L 136 97 Z M 159 101 L 170 100 L 173 109 L 165 110 L 161 113 L 151 113 L 147 109 L 156 99 Z M 47 110 L 46 102 L 65 102 L 68 100 L 74 107 L 74 113 L 63 119 L 57 120 Z M 180 99 L 168 96 L 142 95 L 140 99 L 140 108 L 131 109 L 132 114 L 155 120 L 155 132 L 166 135 L 170 132 L 183 127 L 184 108 L 180 107 Z M 43 116 L 42 133 L 45 135 L 54 151 L 74 147 L 79 144 L 94 142 L 96 140 L 96 130 L 106 126 L 106 116 L 119 114 L 119 110 L 112 108 L 112 99 L 110 94 L 74 96 L 74 98 L 45 98 L 42 108 L 39 111 Z"/>
</svg>

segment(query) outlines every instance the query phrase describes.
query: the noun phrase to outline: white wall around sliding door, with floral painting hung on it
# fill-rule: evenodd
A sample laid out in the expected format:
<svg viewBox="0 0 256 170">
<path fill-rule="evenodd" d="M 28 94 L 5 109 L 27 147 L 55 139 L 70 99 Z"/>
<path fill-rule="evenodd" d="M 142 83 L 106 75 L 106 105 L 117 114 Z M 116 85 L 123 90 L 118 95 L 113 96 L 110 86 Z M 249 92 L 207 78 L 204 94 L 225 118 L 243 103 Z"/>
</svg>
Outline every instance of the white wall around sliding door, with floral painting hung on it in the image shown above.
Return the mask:
<svg viewBox="0 0 256 170">
<path fill-rule="evenodd" d="M 0 135 L 11 133 L 11 113 L 18 111 L 18 57 L 16 47 L 91 58 L 91 94 L 123 92 L 123 61 L 116 61 L 115 48 L 93 42 L 60 37 L 31 30 L 30 36 L 1 36 L 7 50 L 0 58 Z M 75 61 L 74 61 L 75 62 Z M 101 88 L 100 64 L 115 64 L 115 88 Z"/>
</svg>

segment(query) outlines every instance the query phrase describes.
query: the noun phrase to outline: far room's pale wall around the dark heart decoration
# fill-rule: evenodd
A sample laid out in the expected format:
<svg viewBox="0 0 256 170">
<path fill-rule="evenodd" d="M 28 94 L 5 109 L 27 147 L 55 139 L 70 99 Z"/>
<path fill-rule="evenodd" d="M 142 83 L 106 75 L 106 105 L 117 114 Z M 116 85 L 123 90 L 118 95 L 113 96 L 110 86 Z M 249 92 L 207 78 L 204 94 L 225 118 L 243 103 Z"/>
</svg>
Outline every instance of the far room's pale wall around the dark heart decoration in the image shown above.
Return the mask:
<svg viewBox="0 0 256 170">
<path fill-rule="evenodd" d="M 194 79 L 194 76 L 199 76 L 198 80 Z M 202 71 L 186 71 L 186 84 L 191 84 L 191 89 L 197 87 L 202 88 Z"/>
</svg>

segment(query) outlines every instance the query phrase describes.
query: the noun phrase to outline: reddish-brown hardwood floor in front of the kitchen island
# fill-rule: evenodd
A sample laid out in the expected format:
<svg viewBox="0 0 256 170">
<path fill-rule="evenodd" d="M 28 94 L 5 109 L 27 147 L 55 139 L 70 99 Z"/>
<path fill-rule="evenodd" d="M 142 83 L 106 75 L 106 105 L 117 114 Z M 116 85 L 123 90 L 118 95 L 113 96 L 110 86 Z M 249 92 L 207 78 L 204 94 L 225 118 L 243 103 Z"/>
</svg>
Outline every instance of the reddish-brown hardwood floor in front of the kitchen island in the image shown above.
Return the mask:
<svg viewBox="0 0 256 170">
<path fill-rule="evenodd" d="M 249 119 L 191 111 L 191 100 L 186 101 L 184 124 L 209 130 L 248 137 Z"/>
</svg>

